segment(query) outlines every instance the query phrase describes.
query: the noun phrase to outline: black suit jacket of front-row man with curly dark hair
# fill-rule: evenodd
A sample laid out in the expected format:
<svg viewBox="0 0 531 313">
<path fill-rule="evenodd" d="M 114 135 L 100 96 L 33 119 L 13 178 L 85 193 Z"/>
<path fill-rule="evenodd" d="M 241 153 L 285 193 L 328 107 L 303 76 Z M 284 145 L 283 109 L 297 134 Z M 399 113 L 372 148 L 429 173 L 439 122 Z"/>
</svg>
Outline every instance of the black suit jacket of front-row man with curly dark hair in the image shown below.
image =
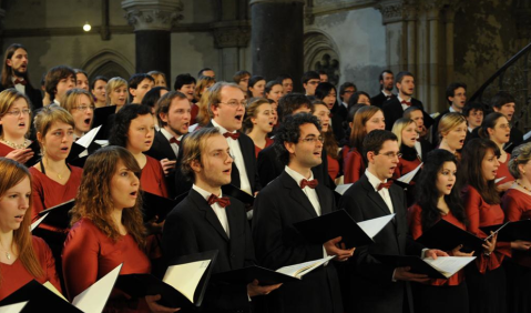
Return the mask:
<svg viewBox="0 0 531 313">
<path fill-rule="evenodd" d="M 315 189 L 321 214 L 335 210 L 333 192 L 323 184 Z M 321 244 L 310 244 L 293 226 L 317 218 L 306 194 L 288 173 L 283 173 L 258 193 L 253 216 L 253 239 L 258 263 L 267 269 L 324 258 Z M 283 284 L 267 297 L 269 312 L 343 312 L 339 280 L 329 262 L 302 281 Z"/>
</svg>

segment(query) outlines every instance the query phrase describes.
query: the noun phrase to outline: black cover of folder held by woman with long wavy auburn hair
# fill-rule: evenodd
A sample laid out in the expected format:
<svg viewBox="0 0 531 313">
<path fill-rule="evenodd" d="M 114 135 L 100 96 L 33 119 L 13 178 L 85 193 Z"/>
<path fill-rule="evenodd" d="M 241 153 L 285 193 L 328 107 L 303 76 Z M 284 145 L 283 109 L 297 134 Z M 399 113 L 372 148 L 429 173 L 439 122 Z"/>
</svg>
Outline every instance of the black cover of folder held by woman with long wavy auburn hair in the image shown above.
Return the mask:
<svg viewBox="0 0 531 313">
<path fill-rule="evenodd" d="M 160 294 L 161 300 L 159 303 L 167 307 L 193 307 L 201 306 L 203 297 L 205 295 L 206 286 L 208 284 L 214 262 L 217 258 L 217 250 L 206 251 L 202 253 L 195 253 L 190 255 L 180 256 L 170 264 L 178 265 L 186 264 L 196 261 L 211 260 L 208 267 L 203 274 L 200 283 L 197 284 L 194 293 L 194 303 L 190 302 L 187 297 L 181 294 L 173 286 L 166 284 L 161 279 L 155 277 L 152 274 L 129 274 L 120 275 L 116 281 L 116 287 L 125 292 L 133 297 L 143 297 L 145 295 Z"/>
</svg>

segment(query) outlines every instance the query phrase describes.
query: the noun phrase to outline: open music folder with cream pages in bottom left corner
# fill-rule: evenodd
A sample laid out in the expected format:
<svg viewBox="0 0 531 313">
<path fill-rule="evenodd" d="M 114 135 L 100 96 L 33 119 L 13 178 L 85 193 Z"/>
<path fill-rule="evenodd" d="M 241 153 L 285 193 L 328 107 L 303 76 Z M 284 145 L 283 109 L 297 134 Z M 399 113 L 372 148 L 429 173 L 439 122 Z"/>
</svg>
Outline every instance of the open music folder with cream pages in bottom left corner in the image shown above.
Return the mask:
<svg viewBox="0 0 531 313">
<path fill-rule="evenodd" d="M 69 303 L 50 282 L 41 284 L 32 280 L 4 297 L 0 302 L 0 306 L 27 301 L 28 304 L 19 312 L 45 312 L 43 307 L 47 307 L 61 313 L 101 313 L 111 295 L 122 265 L 123 263 L 76 295 L 72 303 Z"/>
</svg>

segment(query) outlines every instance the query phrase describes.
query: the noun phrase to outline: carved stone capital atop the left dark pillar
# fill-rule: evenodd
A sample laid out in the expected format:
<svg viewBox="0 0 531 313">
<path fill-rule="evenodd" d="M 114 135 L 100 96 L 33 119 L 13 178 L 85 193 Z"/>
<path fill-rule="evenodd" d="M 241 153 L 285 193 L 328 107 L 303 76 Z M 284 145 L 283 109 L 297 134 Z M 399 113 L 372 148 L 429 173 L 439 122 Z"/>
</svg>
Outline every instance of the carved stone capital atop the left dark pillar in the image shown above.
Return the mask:
<svg viewBox="0 0 531 313">
<path fill-rule="evenodd" d="M 123 0 L 122 9 L 129 24 L 139 30 L 166 30 L 176 24 L 183 16 L 181 0 Z"/>
</svg>

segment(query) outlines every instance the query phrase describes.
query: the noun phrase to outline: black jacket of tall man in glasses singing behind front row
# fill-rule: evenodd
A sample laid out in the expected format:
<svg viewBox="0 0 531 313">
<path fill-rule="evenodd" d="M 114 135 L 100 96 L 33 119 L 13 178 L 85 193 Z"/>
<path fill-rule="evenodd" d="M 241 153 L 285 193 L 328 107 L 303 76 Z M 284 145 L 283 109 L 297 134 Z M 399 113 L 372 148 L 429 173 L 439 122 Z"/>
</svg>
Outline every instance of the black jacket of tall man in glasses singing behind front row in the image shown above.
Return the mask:
<svg viewBox="0 0 531 313">
<path fill-rule="evenodd" d="M 207 128 L 213 128 L 212 121 L 206 125 Z M 245 171 L 247 172 L 247 179 L 249 180 L 251 190 L 254 192 L 262 189 L 262 184 L 258 178 L 258 169 L 256 168 L 256 156 L 255 156 L 255 144 L 253 140 L 245 133 L 239 133 L 238 138 L 239 150 L 242 150 L 242 155 L 244 156 Z M 233 169 L 231 172 L 231 184 L 239 188 L 242 184 L 239 182 L 239 171 L 236 166 L 236 162 L 233 162 Z"/>
</svg>

